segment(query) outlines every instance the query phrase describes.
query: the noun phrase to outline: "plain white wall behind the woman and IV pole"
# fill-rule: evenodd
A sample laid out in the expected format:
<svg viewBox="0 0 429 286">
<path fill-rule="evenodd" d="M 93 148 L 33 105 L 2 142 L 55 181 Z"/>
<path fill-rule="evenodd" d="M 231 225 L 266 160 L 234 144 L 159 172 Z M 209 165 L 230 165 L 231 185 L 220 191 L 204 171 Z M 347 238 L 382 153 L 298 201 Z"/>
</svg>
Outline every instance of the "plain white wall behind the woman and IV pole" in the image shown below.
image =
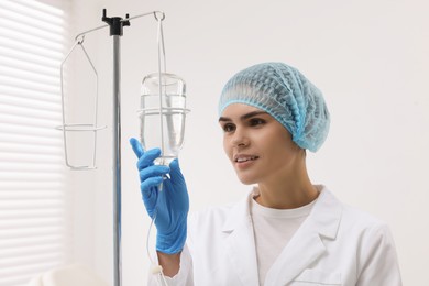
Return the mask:
<svg viewBox="0 0 429 286">
<path fill-rule="evenodd" d="M 429 285 L 429 4 L 380 1 L 75 0 L 80 31 L 108 15 L 166 12 L 167 64 L 188 84 L 186 144 L 180 154 L 191 208 L 234 201 L 241 186 L 223 155 L 217 100 L 226 80 L 252 64 L 298 67 L 324 94 L 332 116 L 324 146 L 308 156 L 315 183 L 343 201 L 386 220 L 394 233 L 404 285 Z M 122 37 L 123 284 L 144 285 L 150 224 L 141 202 L 128 139 L 139 135 L 140 82 L 156 70 L 156 22 L 135 20 Z M 111 279 L 111 38 L 88 35 L 101 79 L 103 132 L 99 169 L 76 175 L 79 217 L 76 258 Z M 84 180 L 81 180 L 84 182 Z M 82 189 L 82 185 L 95 188 Z M 82 195 L 85 194 L 85 195 Z M 79 232 L 80 231 L 80 232 Z M 90 232 L 90 234 L 88 234 Z M 86 233 L 86 234 L 82 234 Z M 85 240 L 88 238 L 89 240 Z M 87 250 L 84 252 L 82 250 Z M 88 254 L 89 253 L 89 254 Z"/>
</svg>

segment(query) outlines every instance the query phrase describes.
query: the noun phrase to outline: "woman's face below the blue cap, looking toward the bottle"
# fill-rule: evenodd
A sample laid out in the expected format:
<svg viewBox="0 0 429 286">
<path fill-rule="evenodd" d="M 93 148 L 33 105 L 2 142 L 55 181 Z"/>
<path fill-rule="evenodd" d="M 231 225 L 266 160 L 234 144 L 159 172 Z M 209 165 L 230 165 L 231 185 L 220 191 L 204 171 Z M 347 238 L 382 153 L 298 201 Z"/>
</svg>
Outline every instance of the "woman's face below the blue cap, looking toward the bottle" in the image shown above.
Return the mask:
<svg viewBox="0 0 429 286">
<path fill-rule="evenodd" d="M 263 184 L 288 176 L 304 160 L 305 151 L 263 110 L 233 103 L 224 109 L 219 123 L 223 148 L 243 184 Z"/>
</svg>

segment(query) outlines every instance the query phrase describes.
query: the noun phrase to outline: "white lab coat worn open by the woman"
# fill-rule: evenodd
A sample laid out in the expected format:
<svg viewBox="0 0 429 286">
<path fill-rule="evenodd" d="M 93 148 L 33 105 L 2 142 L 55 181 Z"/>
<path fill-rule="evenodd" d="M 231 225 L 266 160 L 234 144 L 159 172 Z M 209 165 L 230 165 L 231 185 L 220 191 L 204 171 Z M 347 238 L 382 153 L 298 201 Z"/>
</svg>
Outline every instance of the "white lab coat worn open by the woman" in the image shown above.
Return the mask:
<svg viewBox="0 0 429 286">
<path fill-rule="evenodd" d="M 180 271 L 168 285 L 258 286 L 251 199 L 189 216 Z M 387 226 L 323 187 L 264 285 L 400 286 L 402 280 Z"/>
</svg>

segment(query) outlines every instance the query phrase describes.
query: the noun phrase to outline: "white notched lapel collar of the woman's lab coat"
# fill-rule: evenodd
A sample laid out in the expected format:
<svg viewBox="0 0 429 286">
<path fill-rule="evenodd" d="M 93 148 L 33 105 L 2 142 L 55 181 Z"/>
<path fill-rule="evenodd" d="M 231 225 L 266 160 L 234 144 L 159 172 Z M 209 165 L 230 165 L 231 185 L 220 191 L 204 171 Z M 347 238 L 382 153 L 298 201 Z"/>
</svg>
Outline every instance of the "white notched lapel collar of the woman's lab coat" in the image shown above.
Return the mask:
<svg viewBox="0 0 429 286">
<path fill-rule="evenodd" d="M 323 239 L 334 240 L 341 221 L 342 205 L 324 187 L 320 189 L 310 215 L 267 273 L 265 285 L 286 285 L 326 252 Z M 251 193 L 235 205 L 222 231 L 230 233 L 227 248 L 232 268 L 243 285 L 257 285 L 257 260 L 252 219 Z"/>
</svg>

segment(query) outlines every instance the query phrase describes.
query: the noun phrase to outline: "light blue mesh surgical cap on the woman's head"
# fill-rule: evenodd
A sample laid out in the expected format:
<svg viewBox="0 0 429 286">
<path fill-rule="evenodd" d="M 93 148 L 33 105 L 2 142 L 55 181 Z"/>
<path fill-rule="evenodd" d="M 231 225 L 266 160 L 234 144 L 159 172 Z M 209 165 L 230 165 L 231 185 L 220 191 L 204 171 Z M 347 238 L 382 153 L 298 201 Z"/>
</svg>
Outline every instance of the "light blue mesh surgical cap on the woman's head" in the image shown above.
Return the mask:
<svg viewBox="0 0 429 286">
<path fill-rule="evenodd" d="M 232 103 L 266 111 L 301 148 L 316 152 L 328 135 L 330 116 L 321 91 L 286 64 L 263 63 L 235 74 L 222 90 L 219 114 Z"/>
</svg>

